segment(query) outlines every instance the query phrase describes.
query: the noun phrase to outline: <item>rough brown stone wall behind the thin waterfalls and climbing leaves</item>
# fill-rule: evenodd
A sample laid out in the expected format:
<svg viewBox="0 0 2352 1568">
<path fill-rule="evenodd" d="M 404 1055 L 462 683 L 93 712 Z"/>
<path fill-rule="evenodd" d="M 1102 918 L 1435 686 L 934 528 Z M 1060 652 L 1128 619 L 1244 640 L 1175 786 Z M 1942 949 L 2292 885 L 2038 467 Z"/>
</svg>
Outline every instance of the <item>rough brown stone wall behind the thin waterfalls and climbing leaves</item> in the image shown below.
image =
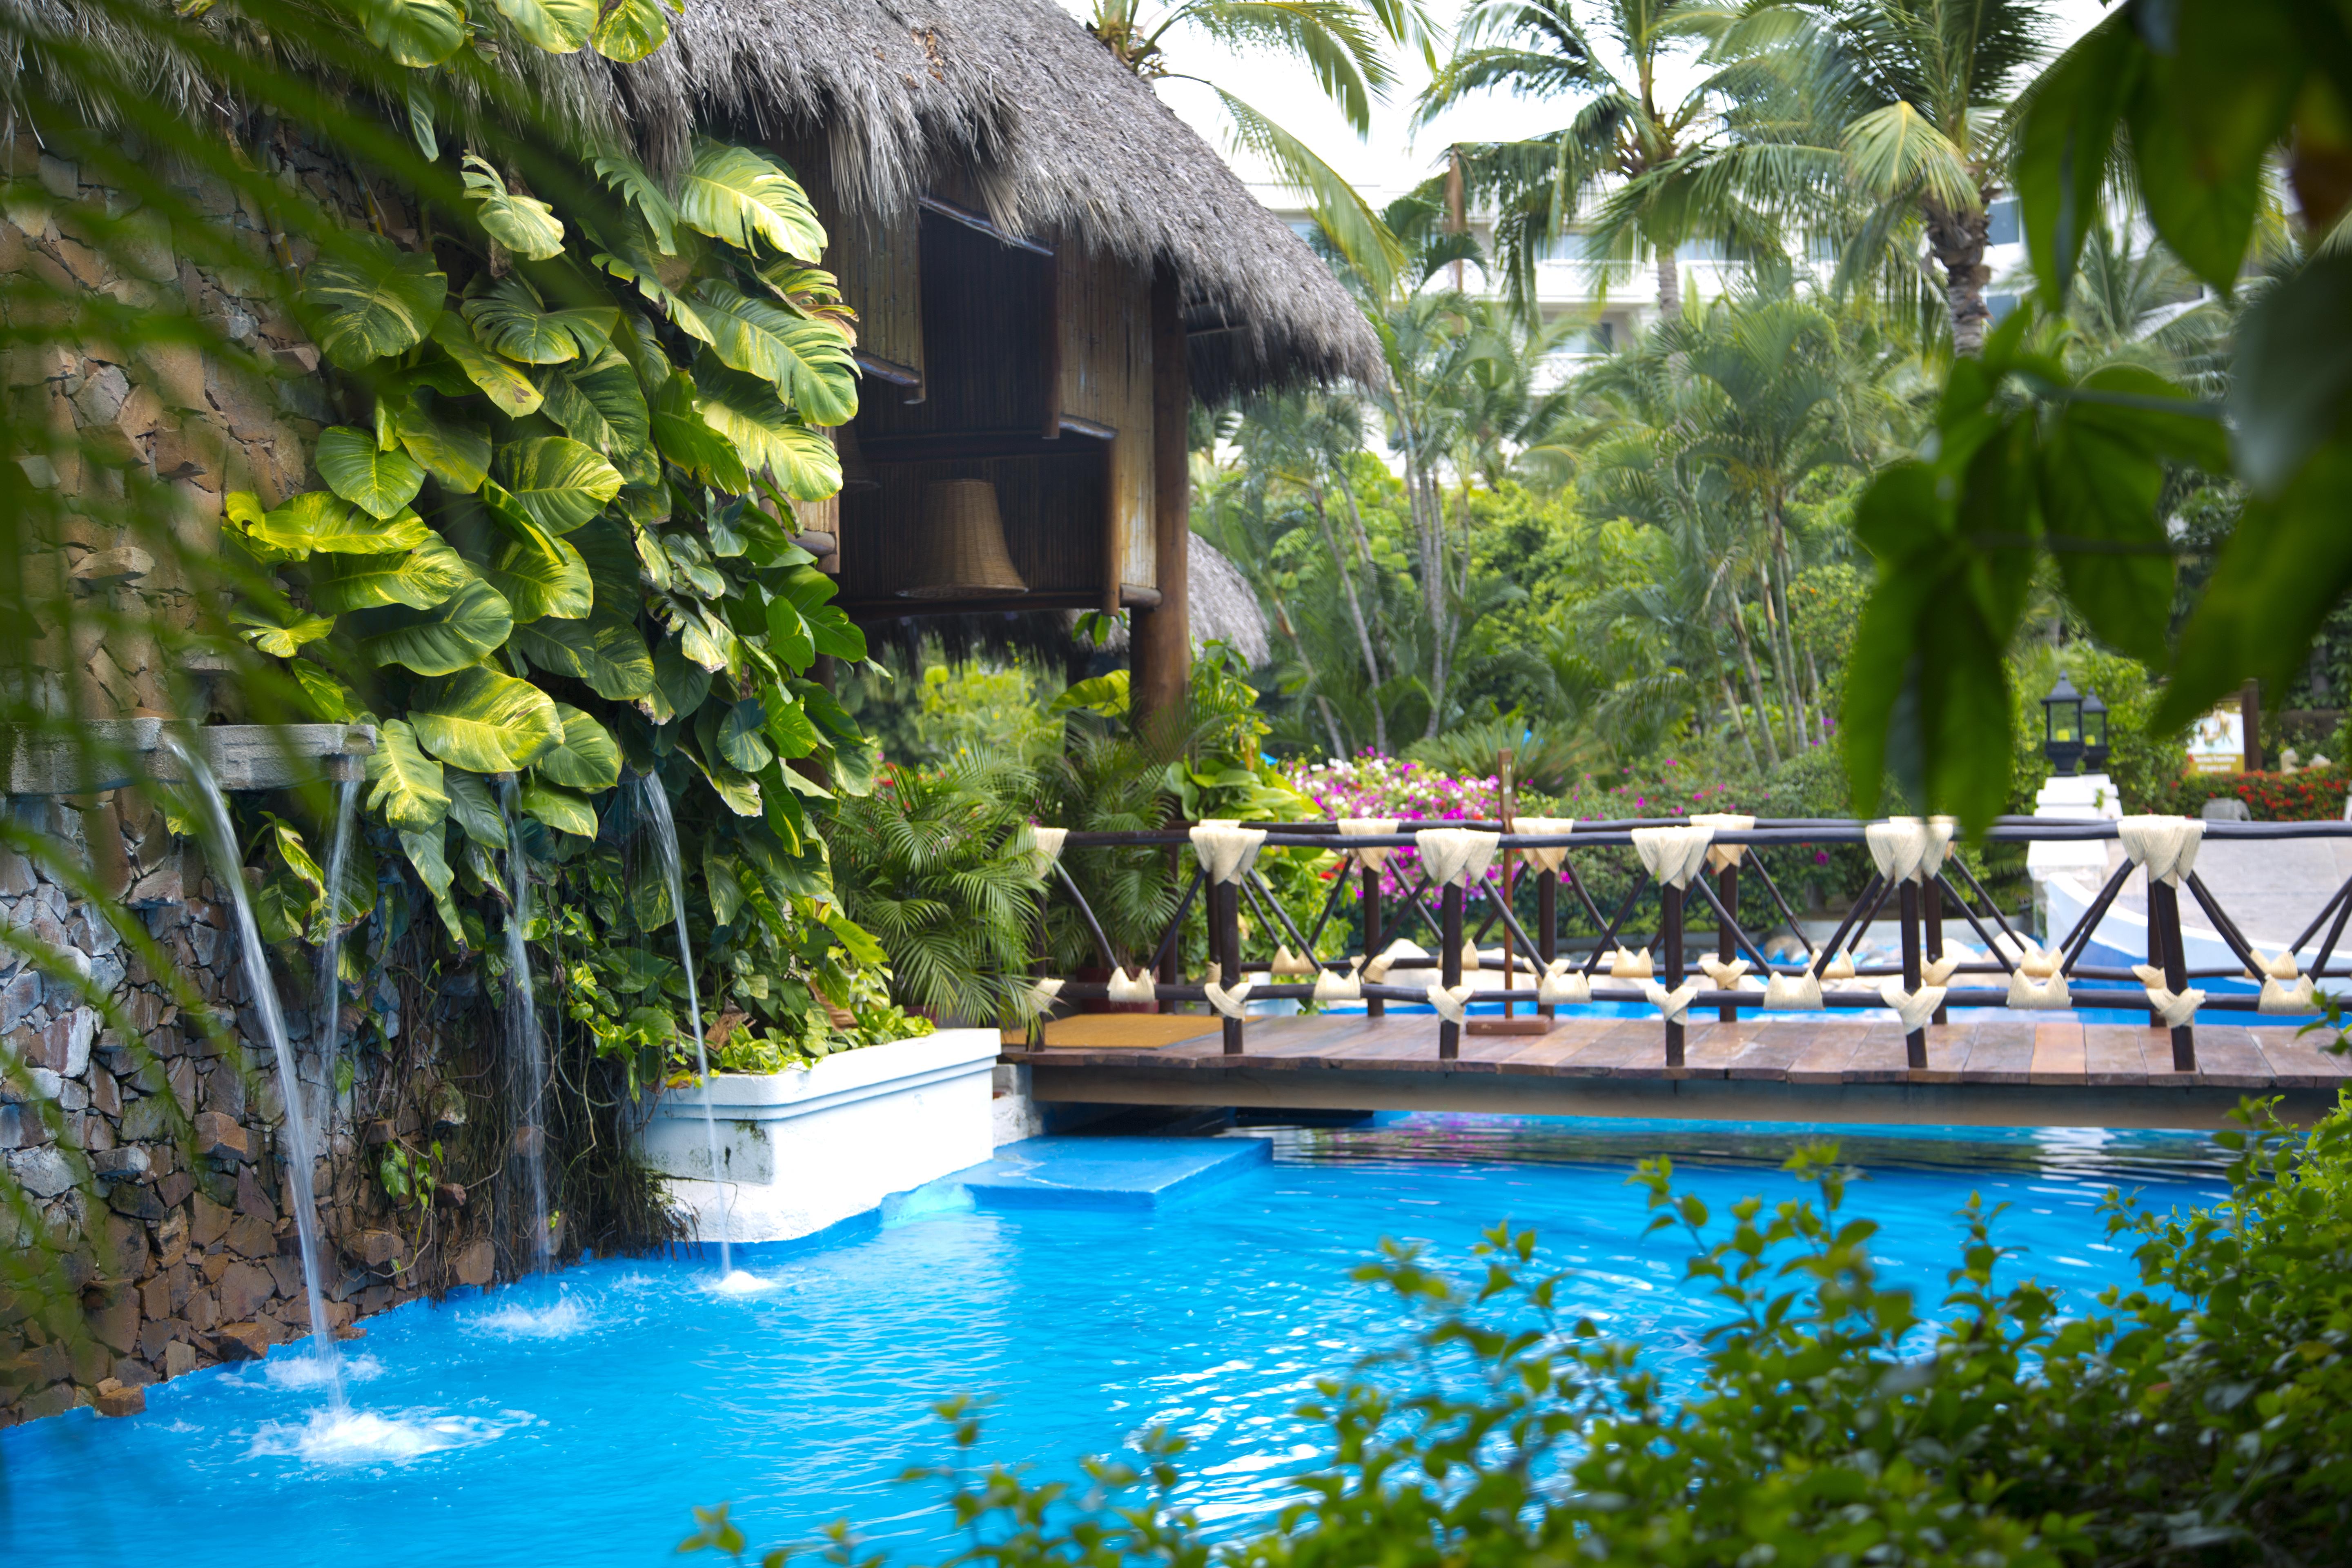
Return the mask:
<svg viewBox="0 0 2352 1568">
<path fill-rule="evenodd" d="M 56 341 L 19 346 L 0 362 L 14 411 L 54 437 L 49 451 L 9 456 L 66 501 L 59 536 L 26 541 L 31 597 L 78 595 L 129 623 L 103 635 L 89 623 L 42 623 L 33 665 L 47 686 L 28 696 L 52 710 L 71 698 L 85 715 L 174 712 L 174 670 L 141 623 L 193 621 L 200 581 L 183 562 L 219 550 L 223 494 L 249 489 L 275 505 L 313 487 L 306 451 L 334 423 L 315 348 L 268 303 L 270 275 L 310 256 L 273 240 L 261 212 L 230 188 L 191 179 L 181 219 L 195 214 L 207 235 L 233 235 L 249 259 L 247 268 L 200 268 L 181 254 L 172 221 L 82 183 L 31 136 L 16 139 L 12 160 L 42 197 L 26 193 L 0 209 L 0 273 L 31 270 L 66 292 L 188 313 L 280 371 L 155 343 Z M 285 143 L 256 148 L 256 160 L 329 209 L 414 242 L 397 207 L 327 160 Z M 125 216 L 139 242 L 101 256 L 78 205 Z M 172 491 L 169 538 L 106 520 L 139 473 Z M 198 682 L 195 701 L 202 712 L 188 717 L 242 717 L 235 691 Z M 0 1251 L 24 1262 L 56 1248 L 52 1284 L 64 1286 L 61 1295 L 0 1291 L 0 1425 L 82 1403 L 127 1413 L 160 1378 L 249 1359 L 310 1331 L 280 1180 L 280 1084 L 249 1006 L 233 914 L 202 856 L 134 790 L 9 809 L 129 903 L 169 966 L 230 1025 L 233 1044 L 223 1051 L 181 1016 L 169 987 L 47 870 L 0 851 L 0 919 L 66 952 L 125 1020 L 106 1027 L 75 985 L 0 954 L 0 1157 L 24 1204 L 21 1213 L 0 1208 Z M 318 1171 L 327 1312 L 346 1333 L 358 1316 L 487 1284 L 496 1269 L 489 1204 L 468 1211 L 466 1187 L 440 1182 L 423 1204 L 397 1208 L 374 1180 L 381 1145 L 466 1133 L 468 1100 L 442 1077 L 442 1053 L 463 1056 L 452 1041 L 480 1032 L 477 997 L 449 987 L 426 1004 L 381 971 L 369 987 L 365 1006 L 346 1009 L 346 1032 L 365 1034 L 365 1056 L 353 1051 L 362 1077 L 336 1095 L 308 1044 L 313 1001 L 280 976 L 310 1126 L 329 1128 Z M 475 1077 L 485 1074 L 475 1067 Z M 489 1138 L 475 1128 L 475 1166 L 499 1171 L 503 1150 L 480 1152 Z"/>
</svg>

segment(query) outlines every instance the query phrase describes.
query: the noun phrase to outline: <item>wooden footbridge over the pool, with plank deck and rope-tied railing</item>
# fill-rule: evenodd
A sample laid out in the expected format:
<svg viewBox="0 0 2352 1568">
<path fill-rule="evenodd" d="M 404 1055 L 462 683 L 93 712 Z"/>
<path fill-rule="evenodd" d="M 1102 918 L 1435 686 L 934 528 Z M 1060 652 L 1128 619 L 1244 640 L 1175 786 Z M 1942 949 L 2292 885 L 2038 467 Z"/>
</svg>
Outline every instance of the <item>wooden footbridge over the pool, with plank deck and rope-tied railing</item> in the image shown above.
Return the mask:
<svg viewBox="0 0 2352 1568">
<path fill-rule="evenodd" d="M 1200 870 L 1155 950 L 1134 954 L 1148 957 L 1145 964 L 1112 947 L 1080 882 L 1056 860 L 1061 889 L 1115 980 L 1044 980 L 1042 990 L 1058 1006 L 1105 999 L 1157 1011 L 1047 1018 L 1009 1034 L 1004 1060 L 1028 1067 L 1030 1093 L 1049 1103 L 2220 1126 L 2241 1098 L 2279 1095 L 2286 1114 L 2319 1117 L 2352 1084 L 2352 1058 L 2328 1051 L 2333 1032 L 2298 1025 L 2317 1020 L 2319 980 L 2352 973 L 2336 957 L 2352 922 L 2352 882 L 2336 889 L 2284 952 L 2260 952 L 2194 875 L 2197 844 L 2209 832 L 2347 837 L 2352 823 L 2004 818 L 1992 830 L 1997 839 L 2119 839 L 2126 851 L 2074 929 L 2049 947 L 2018 936 L 1976 877 L 1947 858 L 1950 825 L 1905 818 L 1209 823 L 1188 835 L 1073 832 L 1049 837 L 1044 851 L 1174 849 L 1190 839 Z M 1802 959 L 1769 959 L 1736 914 L 1740 872 L 1762 879 L 1773 905 L 1790 914 L 1762 851 L 1856 842 L 1870 846 L 1879 875 L 1837 933 L 1828 943 L 1799 933 Z M 1338 851 L 1359 875 L 1334 875 L 1322 917 L 1301 931 L 1251 867 L 1268 846 Z M 1613 914 L 1590 900 L 1569 858 L 1609 846 L 1637 849 L 1649 872 Z M 1531 860 L 1526 879 L 1536 882 L 1534 933 L 1515 910 L 1522 860 Z M 1947 872 L 1957 872 L 1957 884 Z M 2117 964 L 2119 954 L 2100 961 L 2093 952 L 2100 919 L 2129 882 L 2145 884 L 2147 964 L 2140 966 Z M 1195 940 L 1204 933 L 1218 961 L 1211 976 L 1188 983 L 1174 954 L 1202 891 Z M 1588 954 L 1566 959 L 1559 957 L 1564 891 L 1599 929 Z M 2183 893 L 2211 929 L 2183 926 Z M 1369 952 L 1317 957 L 1343 898 L 1357 905 L 1355 931 Z M 1275 954 L 1244 957 L 1242 900 Z M 1653 900 L 1653 917 L 1637 919 L 1644 900 Z M 1712 931 L 1684 929 L 1686 900 L 1712 910 Z M 1390 907 L 1402 910 L 1404 929 L 1418 922 L 1437 952 L 1383 950 L 1381 940 L 1399 929 L 1388 922 Z M 1900 924 L 1900 964 L 1858 964 L 1863 931 L 1882 907 Z M 1484 917 L 1477 929 L 1468 924 L 1472 914 Z M 1983 950 L 1945 957 L 1947 919 L 1973 929 Z M 1797 926 L 1792 914 L 1788 924 Z M 1621 938 L 1630 931 L 1649 938 L 1639 954 Z M 1498 938 L 1494 947 L 1484 945 L 1489 936 Z M 1703 978 L 1686 978 L 1686 936 L 1705 936 L 1710 947 L 1698 959 Z M 2223 957 L 2192 969 L 2192 952 Z M 1465 969 L 1501 985 L 1470 990 Z M 2223 985 L 2209 994 L 2192 980 Z M 1265 999 L 1336 1011 L 1270 1018 L 1263 1006 L 1251 1009 Z M 1578 1016 L 1585 1001 L 1653 1011 Z M 1211 1011 L 1174 1011 L 1185 1004 Z M 1418 1006 L 1388 1016 L 1392 1004 Z M 1519 1016 L 1472 1016 L 1491 1004 Z M 1955 1009 L 1966 1009 L 1959 1020 Z M 2086 1009 L 2131 1009 L 2150 1023 L 2089 1023 L 2079 1016 Z M 1877 1018 L 1839 1018 L 1842 1011 Z M 2216 1025 L 2216 1013 L 2249 1023 Z M 2265 1013 L 2284 1016 L 2251 1023 Z"/>
</svg>

